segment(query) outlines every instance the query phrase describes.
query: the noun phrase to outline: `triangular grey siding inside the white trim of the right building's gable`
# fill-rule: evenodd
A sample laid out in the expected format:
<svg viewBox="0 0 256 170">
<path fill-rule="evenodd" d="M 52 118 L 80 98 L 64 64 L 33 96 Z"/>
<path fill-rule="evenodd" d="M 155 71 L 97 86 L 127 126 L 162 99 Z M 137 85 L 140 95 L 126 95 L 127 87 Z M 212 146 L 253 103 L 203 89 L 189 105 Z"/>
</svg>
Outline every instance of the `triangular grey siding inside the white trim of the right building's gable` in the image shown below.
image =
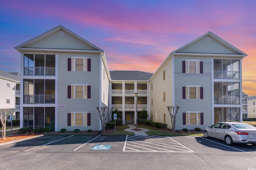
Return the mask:
<svg viewBox="0 0 256 170">
<path fill-rule="evenodd" d="M 226 47 L 222 43 L 216 41 L 213 37 L 210 37 L 210 41 L 206 41 L 206 37 L 202 37 L 198 41 L 184 47 L 177 51 L 178 53 L 212 53 L 212 54 L 240 54 L 236 53 L 232 49 Z"/>
</svg>

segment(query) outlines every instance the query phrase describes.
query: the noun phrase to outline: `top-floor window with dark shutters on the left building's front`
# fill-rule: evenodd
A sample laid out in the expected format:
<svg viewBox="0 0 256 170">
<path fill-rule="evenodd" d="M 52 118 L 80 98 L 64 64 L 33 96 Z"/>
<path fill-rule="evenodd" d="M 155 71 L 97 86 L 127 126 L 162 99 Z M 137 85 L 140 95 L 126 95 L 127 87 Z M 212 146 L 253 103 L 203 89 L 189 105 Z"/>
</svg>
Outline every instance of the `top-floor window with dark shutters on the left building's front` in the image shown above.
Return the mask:
<svg viewBox="0 0 256 170">
<path fill-rule="evenodd" d="M 91 71 L 91 59 L 71 57 L 71 59 L 68 59 L 68 71 Z"/>
</svg>

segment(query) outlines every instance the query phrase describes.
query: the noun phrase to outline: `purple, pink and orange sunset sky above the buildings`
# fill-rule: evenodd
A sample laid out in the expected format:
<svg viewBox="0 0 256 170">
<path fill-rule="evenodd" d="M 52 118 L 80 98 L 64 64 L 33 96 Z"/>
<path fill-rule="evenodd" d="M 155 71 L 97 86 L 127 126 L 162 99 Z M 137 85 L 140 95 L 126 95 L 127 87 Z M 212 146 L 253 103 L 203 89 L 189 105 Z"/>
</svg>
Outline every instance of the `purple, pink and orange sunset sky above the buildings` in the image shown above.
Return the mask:
<svg viewBox="0 0 256 170">
<path fill-rule="evenodd" d="M 109 70 L 154 73 L 168 54 L 211 31 L 248 56 L 242 90 L 256 95 L 255 0 L 0 0 L 0 70 L 14 47 L 62 25 L 106 53 Z"/>
</svg>

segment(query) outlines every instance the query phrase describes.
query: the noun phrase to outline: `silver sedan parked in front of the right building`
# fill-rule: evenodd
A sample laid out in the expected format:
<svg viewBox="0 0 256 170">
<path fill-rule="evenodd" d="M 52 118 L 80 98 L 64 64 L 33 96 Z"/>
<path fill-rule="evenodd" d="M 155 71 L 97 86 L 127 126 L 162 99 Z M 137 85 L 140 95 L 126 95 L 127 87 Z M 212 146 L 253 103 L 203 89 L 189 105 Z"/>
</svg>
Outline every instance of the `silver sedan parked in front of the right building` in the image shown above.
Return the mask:
<svg viewBox="0 0 256 170">
<path fill-rule="evenodd" d="M 219 122 L 203 129 L 204 137 L 224 140 L 226 144 L 256 144 L 256 127 L 240 122 Z"/>
</svg>

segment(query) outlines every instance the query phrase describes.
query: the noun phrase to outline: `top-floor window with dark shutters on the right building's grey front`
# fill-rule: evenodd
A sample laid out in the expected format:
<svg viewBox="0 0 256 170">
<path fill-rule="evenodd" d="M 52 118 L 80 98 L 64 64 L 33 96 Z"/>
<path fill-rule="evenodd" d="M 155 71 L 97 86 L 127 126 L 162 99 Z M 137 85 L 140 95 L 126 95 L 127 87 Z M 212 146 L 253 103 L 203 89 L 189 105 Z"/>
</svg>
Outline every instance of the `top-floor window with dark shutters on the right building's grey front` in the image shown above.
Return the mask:
<svg viewBox="0 0 256 170">
<path fill-rule="evenodd" d="M 182 73 L 203 73 L 203 62 L 196 60 L 182 61 Z"/>
</svg>

